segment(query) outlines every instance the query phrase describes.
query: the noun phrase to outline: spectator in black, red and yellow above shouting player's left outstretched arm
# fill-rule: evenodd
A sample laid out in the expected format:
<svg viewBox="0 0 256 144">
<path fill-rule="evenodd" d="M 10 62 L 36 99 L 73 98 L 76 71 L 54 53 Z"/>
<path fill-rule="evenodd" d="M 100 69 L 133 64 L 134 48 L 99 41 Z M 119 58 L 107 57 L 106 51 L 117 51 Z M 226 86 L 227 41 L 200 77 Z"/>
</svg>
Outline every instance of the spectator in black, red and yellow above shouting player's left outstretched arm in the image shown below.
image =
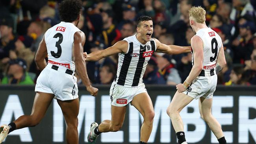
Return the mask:
<svg viewBox="0 0 256 144">
<path fill-rule="evenodd" d="M 102 39 L 106 47 L 112 46 L 121 38 L 120 31 L 113 24 L 113 11 L 106 10 L 101 12 L 103 21 Z"/>
</svg>

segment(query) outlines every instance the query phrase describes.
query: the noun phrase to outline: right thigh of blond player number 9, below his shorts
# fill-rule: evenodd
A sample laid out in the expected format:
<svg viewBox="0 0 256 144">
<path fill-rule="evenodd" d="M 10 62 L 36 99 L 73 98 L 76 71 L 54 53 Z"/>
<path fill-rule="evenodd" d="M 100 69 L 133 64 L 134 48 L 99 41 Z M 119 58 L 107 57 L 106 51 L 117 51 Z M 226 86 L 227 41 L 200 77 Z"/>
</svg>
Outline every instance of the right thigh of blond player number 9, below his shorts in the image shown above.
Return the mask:
<svg viewBox="0 0 256 144">
<path fill-rule="evenodd" d="M 199 100 L 199 111 L 200 114 L 206 118 L 209 114 L 211 114 L 211 105 L 212 105 L 212 98 L 200 98 Z"/>
</svg>

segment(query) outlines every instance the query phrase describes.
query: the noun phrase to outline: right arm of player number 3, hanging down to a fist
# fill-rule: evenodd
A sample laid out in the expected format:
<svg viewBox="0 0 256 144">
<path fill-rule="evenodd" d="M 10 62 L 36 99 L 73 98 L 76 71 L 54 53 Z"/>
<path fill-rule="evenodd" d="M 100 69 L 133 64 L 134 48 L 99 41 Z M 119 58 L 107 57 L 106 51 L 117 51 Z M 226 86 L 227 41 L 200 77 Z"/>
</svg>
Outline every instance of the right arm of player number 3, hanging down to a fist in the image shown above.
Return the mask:
<svg viewBox="0 0 256 144">
<path fill-rule="evenodd" d="M 91 86 L 91 82 L 87 75 L 86 64 L 83 59 L 83 45 L 85 43 L 85 35 L 82 31 L 77 31 L 74 34 L 74 44 L 72 47 L 72 58 L 76 65 L 76 71 L 80 78 L 82 79 L 83 84 L 86 89 L 92 96 L 98 94 L 98 89 Z"/>
</svg>

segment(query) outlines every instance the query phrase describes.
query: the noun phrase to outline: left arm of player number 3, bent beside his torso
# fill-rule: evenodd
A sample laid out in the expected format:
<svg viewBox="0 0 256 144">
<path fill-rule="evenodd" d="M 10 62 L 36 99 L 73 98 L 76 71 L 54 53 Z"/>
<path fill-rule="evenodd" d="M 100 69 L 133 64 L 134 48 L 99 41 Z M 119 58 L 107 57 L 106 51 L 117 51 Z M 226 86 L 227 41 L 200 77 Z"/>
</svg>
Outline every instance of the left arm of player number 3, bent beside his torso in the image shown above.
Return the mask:
<svg viewBox="0 0 256 144">
<path fill-rule="evenodd" d="M 47 56 L 47 48 L 46 48 L 45 36 L 44 36 L 42 41 L 39 43 L 37 53 L 35 54 L 35 63 L 40 70 L 43 70 L 47 65 L 45 61 L 46 56 Z"/>
</svg>

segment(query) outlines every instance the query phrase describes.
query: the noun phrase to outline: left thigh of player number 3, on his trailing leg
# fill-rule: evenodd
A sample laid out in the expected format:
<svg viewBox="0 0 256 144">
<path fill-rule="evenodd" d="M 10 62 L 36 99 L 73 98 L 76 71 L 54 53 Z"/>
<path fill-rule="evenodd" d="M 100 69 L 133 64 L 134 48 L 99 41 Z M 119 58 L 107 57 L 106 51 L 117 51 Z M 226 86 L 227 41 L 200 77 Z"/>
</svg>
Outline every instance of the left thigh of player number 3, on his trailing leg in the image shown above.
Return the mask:
<svg viewBox="0 0 256 144">
<path fill-rule="evenodd" d="M 38 120 L 41 120 L 45 116 L 45 113 L 50 106 L 53 98 L 54 94 L 37 92 L 35 94 L 31 115 Z"/>
</svg>

